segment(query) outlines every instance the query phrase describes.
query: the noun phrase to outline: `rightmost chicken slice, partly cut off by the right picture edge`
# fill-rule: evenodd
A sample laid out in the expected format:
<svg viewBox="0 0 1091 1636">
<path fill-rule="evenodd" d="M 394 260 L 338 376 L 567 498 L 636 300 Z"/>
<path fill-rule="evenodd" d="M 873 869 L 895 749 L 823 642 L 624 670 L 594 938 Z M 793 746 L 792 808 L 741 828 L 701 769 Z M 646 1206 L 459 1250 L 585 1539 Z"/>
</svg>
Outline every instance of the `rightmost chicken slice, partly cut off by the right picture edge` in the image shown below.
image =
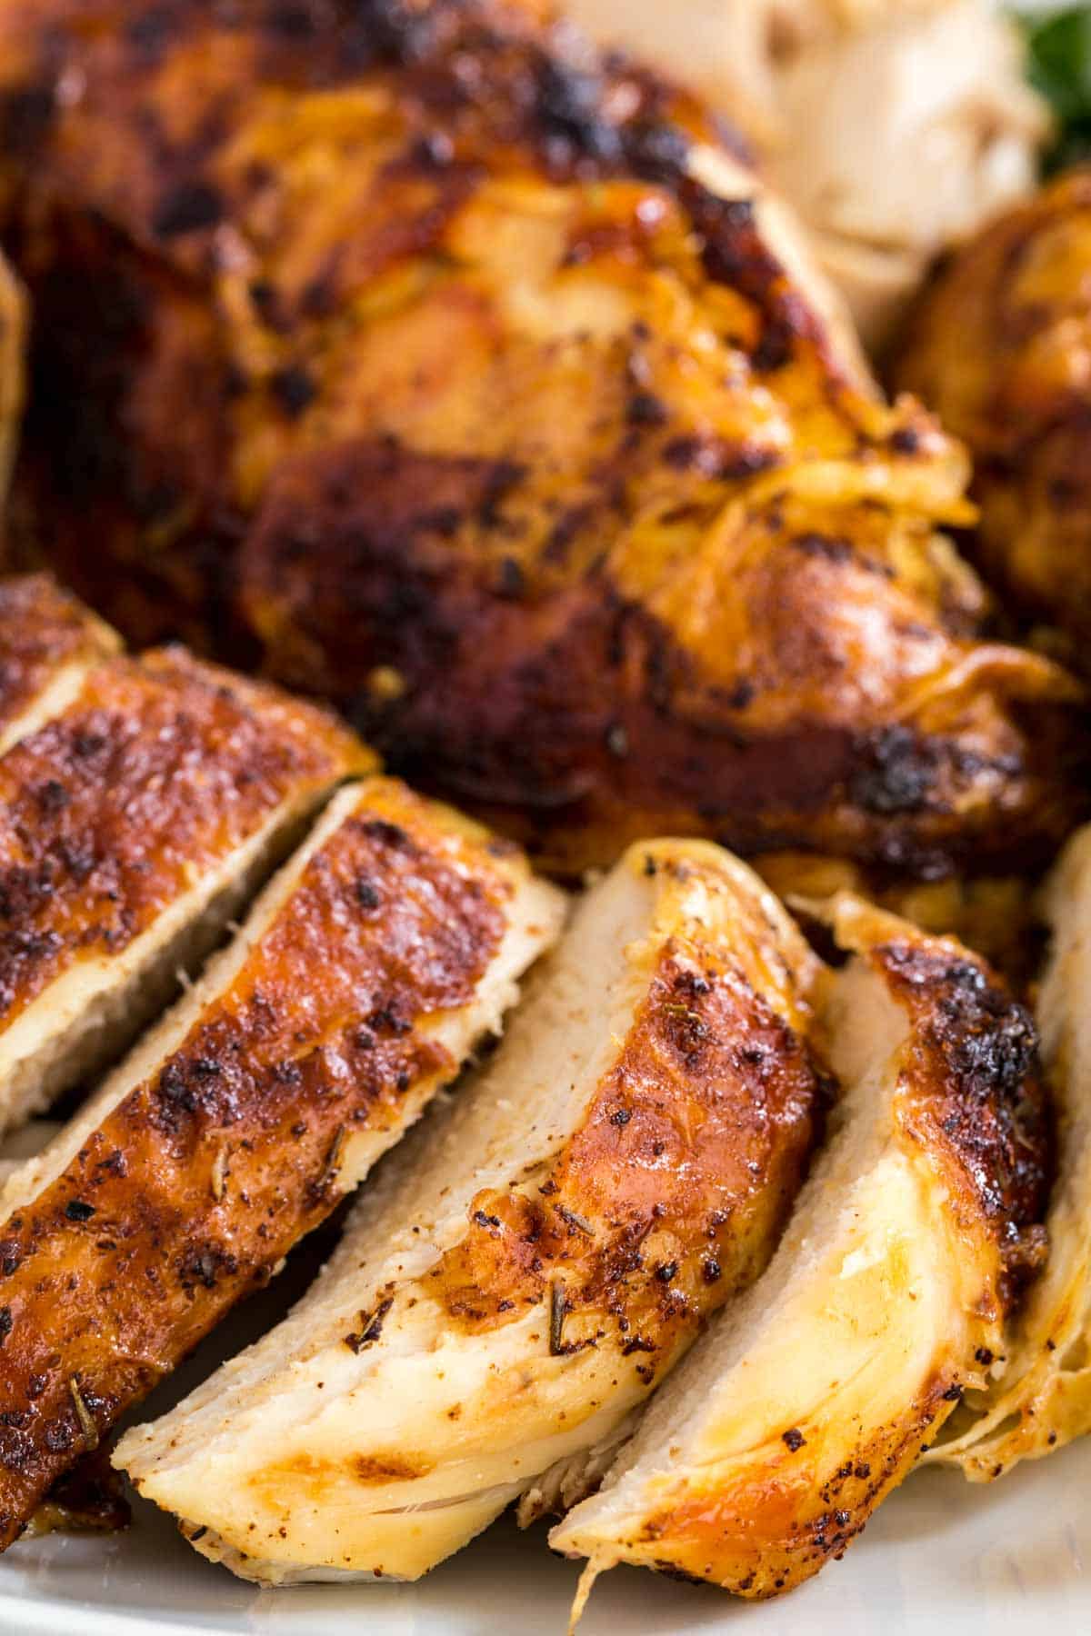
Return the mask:
<svg viewBox="0 0 1091 1636">
<path fill-rule="evenodd" d="M 988 1482 L 1091 1430 L 1091 829 L 1065 849 L 1045 893 L 1053 946 L 1039 1026 L 1060 1116 L 1050 1258 L 1011 1338 L 1008 1368 L 972 1392 L 929 1459 Z"/>
</svg>

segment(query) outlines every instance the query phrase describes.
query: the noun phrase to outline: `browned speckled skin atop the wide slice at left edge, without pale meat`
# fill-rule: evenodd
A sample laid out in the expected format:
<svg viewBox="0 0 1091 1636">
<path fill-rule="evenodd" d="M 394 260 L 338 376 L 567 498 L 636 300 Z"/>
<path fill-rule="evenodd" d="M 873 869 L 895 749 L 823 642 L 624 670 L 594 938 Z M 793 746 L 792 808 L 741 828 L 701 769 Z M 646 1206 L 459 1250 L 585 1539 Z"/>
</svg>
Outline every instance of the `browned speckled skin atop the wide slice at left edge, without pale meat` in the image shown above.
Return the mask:
<svg viewBox="0 0 1091 1636">
<path fill-rule="evenodd" d="M 373 766 L 334 717 L 182 649 L 93 671 L 0 759 L 0 1022 L 126 949 L 288 797 Z"/>
</svg>

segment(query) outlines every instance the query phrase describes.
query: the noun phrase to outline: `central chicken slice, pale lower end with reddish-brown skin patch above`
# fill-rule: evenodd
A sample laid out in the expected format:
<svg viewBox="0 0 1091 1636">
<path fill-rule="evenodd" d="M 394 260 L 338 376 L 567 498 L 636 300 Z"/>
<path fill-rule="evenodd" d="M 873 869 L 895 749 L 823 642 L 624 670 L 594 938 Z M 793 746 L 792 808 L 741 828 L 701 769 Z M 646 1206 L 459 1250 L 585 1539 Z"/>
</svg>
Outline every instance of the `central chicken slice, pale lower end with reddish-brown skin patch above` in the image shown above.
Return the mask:
<svg viewBox="0 0 1091 1636">
<path fill-rule="evenodd" d="M 633 847 L 290 1319 L 118 1464 L 249 1579 L 424 1574 L 765 1265 L 811 1140 L 821 973 L 726 852 Z"/>
</svg>

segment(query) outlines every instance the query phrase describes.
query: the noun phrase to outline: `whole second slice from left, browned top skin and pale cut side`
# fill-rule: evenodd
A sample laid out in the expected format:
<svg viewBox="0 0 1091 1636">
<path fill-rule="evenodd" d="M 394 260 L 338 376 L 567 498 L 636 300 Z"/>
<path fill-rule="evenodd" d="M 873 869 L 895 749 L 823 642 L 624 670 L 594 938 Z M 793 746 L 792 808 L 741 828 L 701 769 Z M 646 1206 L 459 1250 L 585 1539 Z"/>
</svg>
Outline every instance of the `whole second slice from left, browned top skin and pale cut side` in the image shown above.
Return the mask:
<svg viewBox="0 0 1091 1636">
<path fill-rule="evenodd" d="M 332 715 L 182 649 L 98 666 L 0 757 L 0 1130 L 116 1057 L 373 767 Z"/>
</svg>

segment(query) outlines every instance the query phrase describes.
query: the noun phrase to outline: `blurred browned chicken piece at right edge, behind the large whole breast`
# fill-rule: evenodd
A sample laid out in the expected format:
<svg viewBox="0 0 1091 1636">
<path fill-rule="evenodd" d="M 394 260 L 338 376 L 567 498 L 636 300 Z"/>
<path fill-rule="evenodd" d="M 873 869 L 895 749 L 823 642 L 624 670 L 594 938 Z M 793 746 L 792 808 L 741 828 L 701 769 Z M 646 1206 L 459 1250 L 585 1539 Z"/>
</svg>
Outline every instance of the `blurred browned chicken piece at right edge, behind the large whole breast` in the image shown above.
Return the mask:
<svg viewBox="0 0 1091 1636">
<path fill-rule="evenodd" d="M 1091 170 L 970 240 L 909 324 L 896 370 L 965 438 L 981 568 L 1032 618 L 1091 636 Z"/>
</svg>

